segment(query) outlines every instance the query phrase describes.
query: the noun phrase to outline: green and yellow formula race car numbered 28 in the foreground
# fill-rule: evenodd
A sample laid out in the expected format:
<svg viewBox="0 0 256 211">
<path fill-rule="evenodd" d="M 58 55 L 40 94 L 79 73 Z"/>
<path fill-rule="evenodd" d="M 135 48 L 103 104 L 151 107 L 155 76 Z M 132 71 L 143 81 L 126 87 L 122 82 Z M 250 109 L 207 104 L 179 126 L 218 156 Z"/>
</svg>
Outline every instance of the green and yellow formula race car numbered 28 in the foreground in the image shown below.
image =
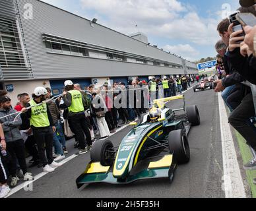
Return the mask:
<svg viewBox="0 0 256 211">
<path fill-rule="evenodd" d="M 183 108 L 166 107 L 173 100 L 183 100 Z M 176 96 L 155 100 L 141 123 L 130 125 L 133 129 L 119 147 L 110 140 L 94 143 L 91 161 L 76 180 L 78 188 L 88 183 L 129 184 L 156 178 L 172 182 L 177 165 L 190 160 L 187 135 L 191 126 L 200 125 L 200 115 L 197 106 L 185 109 L 184 96 Z"/>
</svg>

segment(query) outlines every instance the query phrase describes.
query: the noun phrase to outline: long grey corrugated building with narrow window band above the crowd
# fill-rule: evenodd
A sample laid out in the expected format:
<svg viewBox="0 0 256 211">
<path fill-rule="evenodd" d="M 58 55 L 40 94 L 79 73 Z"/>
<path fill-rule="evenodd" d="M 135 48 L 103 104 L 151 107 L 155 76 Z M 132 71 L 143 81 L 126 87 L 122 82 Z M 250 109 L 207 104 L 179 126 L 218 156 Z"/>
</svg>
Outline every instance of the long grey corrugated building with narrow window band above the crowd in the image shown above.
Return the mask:
<svg viewBox="0 0 256 211">
<path fill-rule="evenodd" d="M 31 93 L 30 86 L 59 94 L 66 79 L 88 86 L 198 74 L 197 65 L 143 42 L 145 36 L 126 36 L 38 0 L 0 2 L 0 39 L 0 88 L 12 97 Z"/>
</svg>

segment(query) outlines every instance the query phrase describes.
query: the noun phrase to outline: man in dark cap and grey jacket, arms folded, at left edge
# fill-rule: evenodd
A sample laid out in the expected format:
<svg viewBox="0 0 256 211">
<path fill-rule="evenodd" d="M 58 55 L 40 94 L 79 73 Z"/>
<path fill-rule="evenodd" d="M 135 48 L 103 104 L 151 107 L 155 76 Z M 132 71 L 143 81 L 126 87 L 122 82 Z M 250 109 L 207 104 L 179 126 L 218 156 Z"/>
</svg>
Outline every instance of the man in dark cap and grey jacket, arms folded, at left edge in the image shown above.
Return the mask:
<svg viewBox="0 0 256 211">
<path fill-rule="evenodd" d="M 11 108 L 11 99 L 7 96 L 0 98 L 0 117 L 4 117 L 15 113 L 16 110 Z M 9 172 L 12 177 L 11 187 L 15 187 L 19 180 L 16 176 L 16 158 L 18 164 L 24 174 L 24 181 L 32 181 L 31 173 L 28 173 L 25 159 L 24 142 L 18 127 L 22 124 L 20 116 L 10 115 L 0 119 L 0 123 L 5 133 L 5 141 L 7 143 L 7 152 L 11 155 L 11 165 L 9 165 Z"/>
</svg>

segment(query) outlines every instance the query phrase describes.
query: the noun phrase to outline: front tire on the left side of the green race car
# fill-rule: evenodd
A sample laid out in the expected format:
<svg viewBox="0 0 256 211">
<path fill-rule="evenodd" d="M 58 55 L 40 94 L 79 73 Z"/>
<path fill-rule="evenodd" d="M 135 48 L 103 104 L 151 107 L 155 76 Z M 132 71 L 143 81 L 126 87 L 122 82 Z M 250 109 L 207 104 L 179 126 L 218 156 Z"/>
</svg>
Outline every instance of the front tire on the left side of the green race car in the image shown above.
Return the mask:
<svg viewBox="0 0 256 211">
<path fill-rule="evenodd" d="M 90 158 L 93 162 L 100 162 L 102 166 L 112 166 L 114 158 L 108 150 L 113 148 L 110 140 L 98 140 L 92 146 Z"/>
</svg>

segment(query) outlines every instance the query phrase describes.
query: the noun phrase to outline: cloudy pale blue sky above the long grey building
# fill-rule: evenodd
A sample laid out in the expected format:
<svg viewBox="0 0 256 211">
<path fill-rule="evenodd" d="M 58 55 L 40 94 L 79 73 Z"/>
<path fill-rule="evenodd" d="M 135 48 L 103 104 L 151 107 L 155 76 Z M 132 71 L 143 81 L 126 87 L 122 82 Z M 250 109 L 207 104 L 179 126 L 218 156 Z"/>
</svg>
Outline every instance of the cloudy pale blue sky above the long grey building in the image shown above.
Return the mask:
<svg viewBox="0 0 256 211">
<path fill-rule="evenodd" d="M 143 32 L 151 45 L 189 61 L 215 57 L 218 22 L 238 0 L 42 0 L 126 35 Z"/>
</svg>

